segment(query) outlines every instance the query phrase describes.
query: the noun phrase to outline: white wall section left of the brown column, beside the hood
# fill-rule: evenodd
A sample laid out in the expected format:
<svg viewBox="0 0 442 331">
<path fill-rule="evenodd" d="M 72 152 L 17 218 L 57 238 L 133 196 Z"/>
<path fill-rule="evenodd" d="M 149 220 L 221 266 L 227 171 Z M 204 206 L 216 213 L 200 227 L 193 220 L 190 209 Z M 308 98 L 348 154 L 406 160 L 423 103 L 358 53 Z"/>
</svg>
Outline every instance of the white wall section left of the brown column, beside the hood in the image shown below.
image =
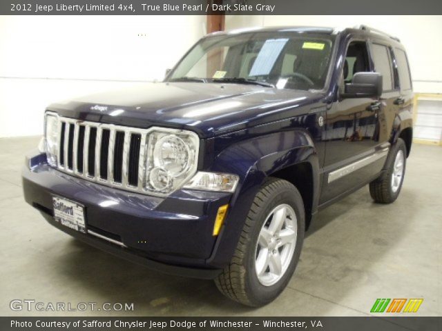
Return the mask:
<svg viewBox="0 0 442 331">
<path fill-rule="evenodd" d="M 204 16 L 0 16 L 0 137 L 41 134 L 54 101 L 162 79 Z"/>
</svg>

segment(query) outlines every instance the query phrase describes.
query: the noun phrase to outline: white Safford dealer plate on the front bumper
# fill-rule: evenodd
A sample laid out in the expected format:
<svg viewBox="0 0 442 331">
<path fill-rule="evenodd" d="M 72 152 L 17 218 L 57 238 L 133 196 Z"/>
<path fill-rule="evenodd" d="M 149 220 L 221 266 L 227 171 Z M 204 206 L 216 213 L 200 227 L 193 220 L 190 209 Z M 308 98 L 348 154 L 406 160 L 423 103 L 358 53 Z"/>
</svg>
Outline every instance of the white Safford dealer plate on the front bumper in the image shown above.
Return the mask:
<svg viewBox="0 0 442 331">
<path fill-rule="evenodd" d="M 55 221 L 79 232 L 86 233 L 84 205 L 61 197 L 52 197 Z"/>
</svg>

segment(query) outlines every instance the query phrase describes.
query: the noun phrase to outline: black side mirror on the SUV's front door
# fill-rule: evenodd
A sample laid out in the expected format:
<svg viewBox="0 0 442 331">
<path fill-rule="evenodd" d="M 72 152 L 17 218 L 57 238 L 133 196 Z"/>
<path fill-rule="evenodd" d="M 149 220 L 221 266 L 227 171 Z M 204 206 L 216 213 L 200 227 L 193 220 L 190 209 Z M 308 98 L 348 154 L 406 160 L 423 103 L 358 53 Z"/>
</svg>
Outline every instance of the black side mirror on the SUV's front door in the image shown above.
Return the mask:
<svg viewBox="0 0 442 331">
<path fill-rule="evenodd" d="M 382 74 L 378 72 L 356 72 L 352 83 L 345 84 L 343 98 L 371 98 L 381 97 Z"/>
</svg>

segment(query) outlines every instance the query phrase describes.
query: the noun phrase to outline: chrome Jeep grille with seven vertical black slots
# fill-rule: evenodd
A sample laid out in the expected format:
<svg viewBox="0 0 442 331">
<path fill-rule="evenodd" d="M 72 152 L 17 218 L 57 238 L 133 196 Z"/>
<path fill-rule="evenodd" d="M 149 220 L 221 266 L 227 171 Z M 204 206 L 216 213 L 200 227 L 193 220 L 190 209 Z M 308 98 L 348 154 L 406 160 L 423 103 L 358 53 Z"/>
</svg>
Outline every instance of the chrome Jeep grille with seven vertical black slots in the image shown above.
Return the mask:
<svg viewBox="0 0 442 331">
<path fill-rule="evenodd" d="M 57 168 L 77 177 L 144 192 L 149 129 L 59 117 Z"/>
</svg>

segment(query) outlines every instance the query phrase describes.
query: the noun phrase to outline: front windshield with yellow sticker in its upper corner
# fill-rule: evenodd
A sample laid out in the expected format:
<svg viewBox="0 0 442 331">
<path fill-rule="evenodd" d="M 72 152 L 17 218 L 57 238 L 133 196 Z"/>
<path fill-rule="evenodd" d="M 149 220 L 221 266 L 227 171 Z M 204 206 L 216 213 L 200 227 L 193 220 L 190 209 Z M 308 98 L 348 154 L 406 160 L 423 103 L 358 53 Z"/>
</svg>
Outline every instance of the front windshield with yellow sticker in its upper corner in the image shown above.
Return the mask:
<svg viewBox="0 0 442 331">
<path fill-rule="evenodd" d="M 202 39 L 178 63 L 168 81 L 256 83 L 321 90 L 334 36 L 298 32 L 249 32 Z"/>
</svg>

